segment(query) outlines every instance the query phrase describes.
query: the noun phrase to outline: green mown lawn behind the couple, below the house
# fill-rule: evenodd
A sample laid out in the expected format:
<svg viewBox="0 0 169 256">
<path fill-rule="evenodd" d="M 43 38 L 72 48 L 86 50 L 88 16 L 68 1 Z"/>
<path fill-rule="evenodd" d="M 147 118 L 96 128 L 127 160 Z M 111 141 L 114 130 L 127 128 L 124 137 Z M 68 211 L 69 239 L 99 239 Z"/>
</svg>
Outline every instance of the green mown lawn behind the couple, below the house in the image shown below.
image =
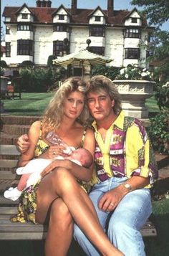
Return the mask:
<svg viewBox="0 0 169 256">
<path fill-rule="evenodd" d="M 22 93 L 21 100 L 2 100 L 6 113 L 11 115 L 42 115 L 54 93 Z M 159 112 L 154 97 L 145 103 L 151 114 Z"/>
</svg>

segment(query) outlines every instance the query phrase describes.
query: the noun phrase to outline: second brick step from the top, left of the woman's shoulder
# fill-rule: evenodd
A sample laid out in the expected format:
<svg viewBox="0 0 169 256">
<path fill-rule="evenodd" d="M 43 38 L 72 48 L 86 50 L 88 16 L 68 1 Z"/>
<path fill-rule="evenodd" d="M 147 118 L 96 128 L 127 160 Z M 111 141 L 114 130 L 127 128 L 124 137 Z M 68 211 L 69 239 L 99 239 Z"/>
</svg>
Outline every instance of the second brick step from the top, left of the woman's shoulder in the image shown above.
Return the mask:
<svg viewBox="0 0 169 256">
<path fill-rule="evenodd" d="M 2 132 L 8 133 L 15 136 L 28 133 L 30 125 L 3 125 Z"/>
</svg>

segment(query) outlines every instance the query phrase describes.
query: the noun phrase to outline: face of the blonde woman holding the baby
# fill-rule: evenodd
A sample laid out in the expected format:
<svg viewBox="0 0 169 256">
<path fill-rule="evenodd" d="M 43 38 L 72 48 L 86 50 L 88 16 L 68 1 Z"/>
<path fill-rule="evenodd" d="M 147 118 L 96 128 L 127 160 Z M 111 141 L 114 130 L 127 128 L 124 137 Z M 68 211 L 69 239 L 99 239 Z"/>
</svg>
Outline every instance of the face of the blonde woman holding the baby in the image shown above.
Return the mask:
<svg viewBox="0 0 169 256">
<path fill-rule="evenodd" d="M 69 93 L 64 103 L 64 115 L 69 118 L 78 118 L 84 108 L 84 94 L 74 91 Z"/>
</svg>

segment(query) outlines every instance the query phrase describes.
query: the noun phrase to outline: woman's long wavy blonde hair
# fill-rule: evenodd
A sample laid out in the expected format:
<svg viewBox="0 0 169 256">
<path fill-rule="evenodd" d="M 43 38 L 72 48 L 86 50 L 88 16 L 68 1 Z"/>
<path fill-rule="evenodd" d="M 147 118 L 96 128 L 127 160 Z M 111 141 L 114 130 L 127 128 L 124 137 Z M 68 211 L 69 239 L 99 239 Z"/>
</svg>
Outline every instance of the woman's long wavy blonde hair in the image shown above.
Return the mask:
<svg viewBox="0 0 169 256">
<path fill-rule="evenodd" d="M 89 110 L 87 108 L 85 98 L 85 93 L 87 91 L 86 82 L 84 82 L 81 77 L 69 77 L 59 87 L 44 112 L 44 117 L 42 118 L 43 133 L 47 133 L 48 131 L 55 131 L 57 128 L 59 128 L 64 114 L 64 102 L 69 93 L 74 91 L 84 93 L 84 108 L 82 113 L 79 115 L 78 121 L 79 123 L 82 123 L 82 125 L 87 123 L 89 118 Z"/>
</svg>

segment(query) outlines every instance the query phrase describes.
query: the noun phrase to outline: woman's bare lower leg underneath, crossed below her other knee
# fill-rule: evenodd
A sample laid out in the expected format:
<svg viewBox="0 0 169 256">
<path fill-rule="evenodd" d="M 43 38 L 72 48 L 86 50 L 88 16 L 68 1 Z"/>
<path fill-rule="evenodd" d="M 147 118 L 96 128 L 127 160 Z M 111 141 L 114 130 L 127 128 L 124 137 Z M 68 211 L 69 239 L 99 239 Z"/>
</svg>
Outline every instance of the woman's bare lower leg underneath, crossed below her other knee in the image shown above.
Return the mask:
<svg viewBox="0 0 169 256">
<path fill-rule="evenodd" d="M 72 242 L 73 219 L 62 199 L 52 203 L 45 240 L 46 256 L 66 256 Z"/>
</svg>

